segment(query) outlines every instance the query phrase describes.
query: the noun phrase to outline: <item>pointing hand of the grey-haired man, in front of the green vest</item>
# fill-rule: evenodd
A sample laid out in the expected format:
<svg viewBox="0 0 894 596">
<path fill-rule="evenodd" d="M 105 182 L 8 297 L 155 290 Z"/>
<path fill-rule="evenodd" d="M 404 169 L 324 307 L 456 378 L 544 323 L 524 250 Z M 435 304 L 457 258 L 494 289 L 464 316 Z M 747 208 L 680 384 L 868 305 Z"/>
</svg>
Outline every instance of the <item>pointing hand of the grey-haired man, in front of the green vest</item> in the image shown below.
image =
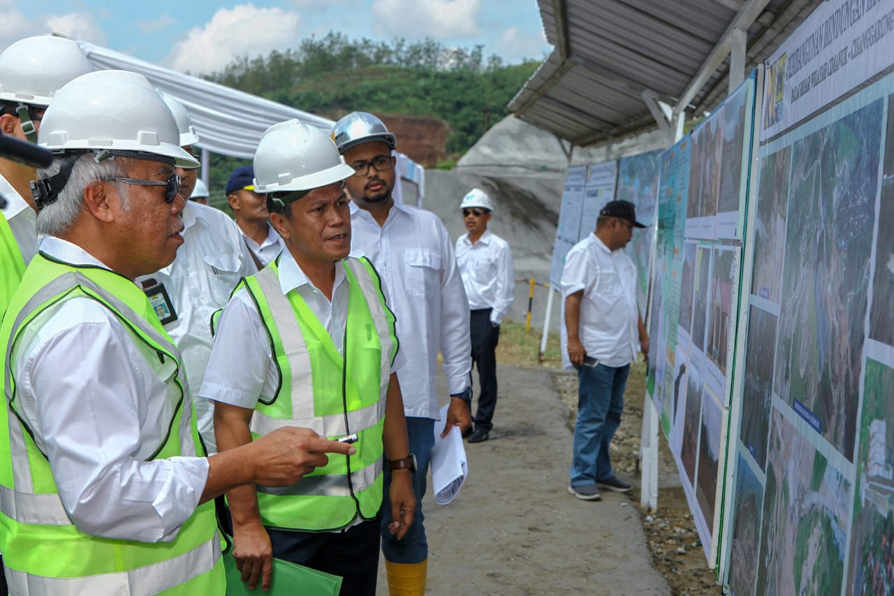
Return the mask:
<svg viewBox="0 0 894 596">
<path fill-rule="evenodd" d="M 320 437 L 310 429 L 283 427 L 251 443 L 255 458 L 255 482 L 266 486 L 290 486 L 316 468 L 329 463 L 327 453 L 352 456 L 357 449 Z"/>
</svg>

